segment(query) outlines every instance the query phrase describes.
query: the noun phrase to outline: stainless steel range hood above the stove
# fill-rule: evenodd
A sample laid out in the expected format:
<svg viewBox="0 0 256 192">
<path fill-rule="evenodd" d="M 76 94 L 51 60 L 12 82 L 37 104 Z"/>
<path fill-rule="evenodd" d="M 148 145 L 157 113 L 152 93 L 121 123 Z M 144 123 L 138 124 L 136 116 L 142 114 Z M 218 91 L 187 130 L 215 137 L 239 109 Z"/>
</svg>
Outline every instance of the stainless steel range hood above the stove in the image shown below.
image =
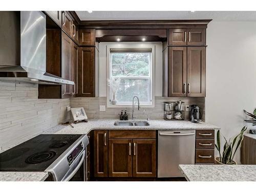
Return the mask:
<svg viewBox="0 0 256 192">
<path fill-rule="evenodd" d="M 0 11 L 0 80 L 74 84 L 46 72 L 46 16 L 41 11 Z"/>
</svg>

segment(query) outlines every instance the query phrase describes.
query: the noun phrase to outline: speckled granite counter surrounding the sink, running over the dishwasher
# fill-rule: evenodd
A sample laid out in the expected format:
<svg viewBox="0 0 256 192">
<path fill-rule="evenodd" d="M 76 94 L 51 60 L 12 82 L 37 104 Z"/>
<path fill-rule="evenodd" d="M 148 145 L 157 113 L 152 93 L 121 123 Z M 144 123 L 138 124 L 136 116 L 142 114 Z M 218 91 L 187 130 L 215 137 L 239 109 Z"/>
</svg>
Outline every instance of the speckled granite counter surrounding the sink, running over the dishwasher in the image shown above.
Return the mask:
<svg viewBox="0 0 256 192">
<path fill-rule="evenodd" d="M 216 125 L 205 122 L 191 123 L 190 121 L 166 121 L 149 120 L 149 126 L 115 126 L 117 119 L 89 120 L 70 125 L 57 125 L 45 131 L 43 134 L 88 134 L 91 130 L 201 130 L 201 129 L 220 129 Z"/>
</svg>

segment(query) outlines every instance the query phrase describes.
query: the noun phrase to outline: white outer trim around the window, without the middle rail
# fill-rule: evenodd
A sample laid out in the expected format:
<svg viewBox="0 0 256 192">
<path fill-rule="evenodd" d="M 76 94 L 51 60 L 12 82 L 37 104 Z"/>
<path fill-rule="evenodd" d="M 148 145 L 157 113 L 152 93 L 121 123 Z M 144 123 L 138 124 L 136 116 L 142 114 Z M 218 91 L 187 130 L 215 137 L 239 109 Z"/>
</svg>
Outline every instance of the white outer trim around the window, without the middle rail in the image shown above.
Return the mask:
<svg viewBox="0 0 256 192">
<path fill-rule="evenodd" d="M 152 102 L 151 104 L 141 104 L 142 108 L 155 108 L 155 66 L 156 66 L 156 46 L 155 45 L 147 45 L 146 43 L 141 44 L 134 42 L 134 45 L 127 45 L 125 43 L 118 44 L 119 47 L 117 46 L 106 46 L 106 78 L 110 78 L 110 49 L 115 49 L 115 48 L 126 48 L 126 49 L 134 49 L 134 48 L 151 48 L 152 49 L 152 55 L 151 55 L 151 97 L 152 97 Z M 111 104 L 110 102 L 110 87 L 107 86 L 106 88 L 106 107 L 107 108 L 132 108 L 132 104 Z M 131 98 L 132 102 L 132 98 Z"/>
</svg>

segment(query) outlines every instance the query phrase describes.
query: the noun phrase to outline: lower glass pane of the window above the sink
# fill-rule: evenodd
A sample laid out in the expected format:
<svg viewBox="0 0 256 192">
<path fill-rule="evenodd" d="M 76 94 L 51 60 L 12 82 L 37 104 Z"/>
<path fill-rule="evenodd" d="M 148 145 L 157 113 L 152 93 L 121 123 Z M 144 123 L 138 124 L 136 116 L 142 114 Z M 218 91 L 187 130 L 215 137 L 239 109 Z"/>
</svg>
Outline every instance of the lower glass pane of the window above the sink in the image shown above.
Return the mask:
<svg viewBox="0 0 256 192">
<path fill-rule="evenodd" d="M 118 104 L 131 104 L 135 95 L 139 96 L 141 103 L 151 104 L 150 79 L 120 79 L 116 93 Z"/>
</svg>

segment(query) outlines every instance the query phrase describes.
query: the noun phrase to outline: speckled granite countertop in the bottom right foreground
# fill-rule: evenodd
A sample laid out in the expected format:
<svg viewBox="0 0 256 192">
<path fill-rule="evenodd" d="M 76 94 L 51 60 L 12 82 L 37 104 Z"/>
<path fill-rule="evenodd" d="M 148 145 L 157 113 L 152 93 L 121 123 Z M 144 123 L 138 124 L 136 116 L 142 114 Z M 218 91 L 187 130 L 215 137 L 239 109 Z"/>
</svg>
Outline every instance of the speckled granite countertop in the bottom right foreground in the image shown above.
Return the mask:
<svg viewBox="0 0 256 192">
<path fill-rule="evenodd" d="M 256 165 L 179 165 L 187 181 L 256 181 Z"/>
</svg>

